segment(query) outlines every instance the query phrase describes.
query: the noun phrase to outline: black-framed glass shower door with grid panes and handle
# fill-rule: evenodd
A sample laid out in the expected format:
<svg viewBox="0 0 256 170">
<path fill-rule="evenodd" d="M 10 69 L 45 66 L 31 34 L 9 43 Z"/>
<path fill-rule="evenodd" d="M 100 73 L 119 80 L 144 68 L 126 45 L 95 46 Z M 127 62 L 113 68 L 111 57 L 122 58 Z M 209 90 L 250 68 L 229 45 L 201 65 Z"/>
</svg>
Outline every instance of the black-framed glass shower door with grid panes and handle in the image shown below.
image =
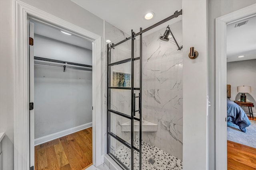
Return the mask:
<svg viewBox="0 0 256 170">
<path fill-rule="evenodd" d="M 128 170 L 141 169 L 141 62 L 134 57 L 134 39 L 132 31 L 131 37 L 108 45 L 107 59 L 107 150 Z"/>
</svg>

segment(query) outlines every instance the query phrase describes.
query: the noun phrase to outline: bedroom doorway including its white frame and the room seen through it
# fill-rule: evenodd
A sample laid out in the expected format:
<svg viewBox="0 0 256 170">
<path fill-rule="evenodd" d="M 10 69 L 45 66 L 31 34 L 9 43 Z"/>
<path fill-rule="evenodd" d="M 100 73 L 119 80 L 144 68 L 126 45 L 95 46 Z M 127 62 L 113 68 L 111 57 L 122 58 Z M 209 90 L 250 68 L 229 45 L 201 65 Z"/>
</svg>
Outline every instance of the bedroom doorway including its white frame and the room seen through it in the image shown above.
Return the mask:
<svg viewBox="0 0 256 170">
<path fill-rule="evenodd" d="M 248 28 L 255 16 L 256 4 L 216 18 L 216 169 L 256 168 L 256 148 L 248 146 L 255 143 L 251 140 L 256 129 L 252 118 L 255 72 L 248 72 L 256 66 L 252 55 L 256 35 Z M 234 118 L 230 107 L 236 107 L 237 112 L 231 111 Z"/>
</svg>

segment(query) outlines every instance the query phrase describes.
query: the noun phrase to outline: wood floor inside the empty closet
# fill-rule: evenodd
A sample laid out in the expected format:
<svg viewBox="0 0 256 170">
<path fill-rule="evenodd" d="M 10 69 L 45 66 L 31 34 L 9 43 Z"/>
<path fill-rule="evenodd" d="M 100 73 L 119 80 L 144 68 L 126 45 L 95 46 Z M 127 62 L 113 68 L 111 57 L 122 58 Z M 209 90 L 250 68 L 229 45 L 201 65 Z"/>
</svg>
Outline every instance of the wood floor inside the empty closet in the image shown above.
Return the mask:
<svg viewBox="0 0 256 170">
<path fill-rule="evenodd" d="M 82 170 L 92 164 L 92 127 L 35 146 L 35 170 Z"/>
</svg>

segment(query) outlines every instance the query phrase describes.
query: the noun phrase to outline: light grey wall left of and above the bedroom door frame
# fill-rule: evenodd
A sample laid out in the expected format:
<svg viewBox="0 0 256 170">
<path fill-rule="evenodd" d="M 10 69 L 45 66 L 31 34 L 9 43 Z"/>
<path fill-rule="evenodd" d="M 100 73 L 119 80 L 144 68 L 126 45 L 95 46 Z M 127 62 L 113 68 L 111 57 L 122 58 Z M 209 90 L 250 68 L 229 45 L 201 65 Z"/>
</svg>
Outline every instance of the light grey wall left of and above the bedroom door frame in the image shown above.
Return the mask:
<svg viewBox="0 0 256 170">
<path fill-rule="evenodd" d="M 209 169 L 215 169 L 215 19 L 256 3 L 256 0 L 210 0 L 209 1 L 209 45 L 208 45 L 208 86 L 209 100 Z"/>
</svg>

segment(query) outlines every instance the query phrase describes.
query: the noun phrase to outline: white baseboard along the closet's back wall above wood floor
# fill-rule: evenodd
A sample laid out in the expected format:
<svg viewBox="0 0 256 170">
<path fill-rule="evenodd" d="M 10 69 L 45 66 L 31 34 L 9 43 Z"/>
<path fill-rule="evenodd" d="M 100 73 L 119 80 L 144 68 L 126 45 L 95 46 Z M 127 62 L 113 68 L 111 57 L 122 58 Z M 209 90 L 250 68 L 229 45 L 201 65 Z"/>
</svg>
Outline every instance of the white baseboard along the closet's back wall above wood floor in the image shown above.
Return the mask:
<svg viewBox="0 0 256 170">
<path fill-rule="evenodd" d="M 80 125 L 80 126 L 77 126 L 77 127 L 72 127 L 70 129 L 66 129 L 64 131 L 60 131 L 60 132 L 57 132 L 57 133 L 53 133 L 51 135 L 40 137 L 38 139 L 35 139 L 35 146 L 40 145 L 42 143 L 46 143 L 48 141 L 52 141 L 54 139 L 58 139 L 60 137 L 64 137 L 66 135 L 69 135 L 69 134 L 77 132 L 77 131 L 81 131 L 81 130 L 86 129 L 88 127 L 92 127 L 92 122 L 86 123 L 84 125 Z"/>
</svg>

